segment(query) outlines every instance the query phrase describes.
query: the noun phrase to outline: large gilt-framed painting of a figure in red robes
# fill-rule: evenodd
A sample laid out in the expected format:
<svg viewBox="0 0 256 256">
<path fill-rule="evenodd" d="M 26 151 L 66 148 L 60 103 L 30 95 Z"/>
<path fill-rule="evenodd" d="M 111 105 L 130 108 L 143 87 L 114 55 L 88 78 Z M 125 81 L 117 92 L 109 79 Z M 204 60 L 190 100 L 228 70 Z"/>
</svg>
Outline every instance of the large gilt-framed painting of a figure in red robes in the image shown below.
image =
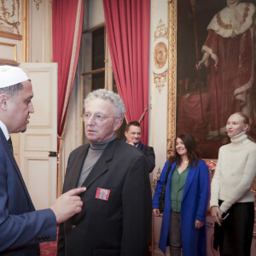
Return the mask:
<svg viewBox="0 0 256 256">
<path fill-rule="evenodd" d="M 201 158 L 230 143 L 225 125 L 241 111 L 256 138 L 255 0 L 169 0 L 167 155 L 193 135 Z M 254 41 L 254 42 L 253 42 Z"/>
</svg>

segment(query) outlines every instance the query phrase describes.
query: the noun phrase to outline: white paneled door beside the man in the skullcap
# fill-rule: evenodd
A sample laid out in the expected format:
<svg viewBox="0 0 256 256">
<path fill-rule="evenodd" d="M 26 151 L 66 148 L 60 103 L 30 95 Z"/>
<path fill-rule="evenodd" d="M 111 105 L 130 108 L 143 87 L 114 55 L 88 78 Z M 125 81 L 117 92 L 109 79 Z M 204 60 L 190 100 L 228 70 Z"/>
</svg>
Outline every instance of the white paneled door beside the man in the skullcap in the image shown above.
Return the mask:
<svg viewBox="0 0 256 256">
<path fill-rule="evenodd" d="M 57 63 L 21 63 L 32 81 L 35 112 L 25 133 L 20 133 L 20 172 L 36 209 L 49 207 L 56 198 Z"/>
</svg>

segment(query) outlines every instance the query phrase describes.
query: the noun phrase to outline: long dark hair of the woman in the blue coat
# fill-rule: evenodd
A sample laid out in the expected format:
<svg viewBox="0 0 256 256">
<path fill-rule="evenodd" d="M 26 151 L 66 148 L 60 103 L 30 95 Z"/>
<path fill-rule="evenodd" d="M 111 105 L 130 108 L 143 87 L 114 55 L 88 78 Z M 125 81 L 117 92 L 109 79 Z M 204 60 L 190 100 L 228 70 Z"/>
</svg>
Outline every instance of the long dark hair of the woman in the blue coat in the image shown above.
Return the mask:
<svg viewBox="0 0 256 256">
<path fill-rule="evenodd" d="M 175 138 L 175 145 L 177 143 L 177 138 L 180 138 L 183 141 L 185 148 L 188 151 L 189 165 L 197 166 L 199 160 L 199 151 L 197 149 L 195 138 L 189 133 L 183 133 Z M 177 161 L 177 165 L 179 166 L 182 162 L 182 158 L 179 154 L 177 154 L 176 148 L 174 152 L 174 156 L 170 157 L 169 159 L 169 165 L 172 165 L 173 162 Z"/>
</svg>

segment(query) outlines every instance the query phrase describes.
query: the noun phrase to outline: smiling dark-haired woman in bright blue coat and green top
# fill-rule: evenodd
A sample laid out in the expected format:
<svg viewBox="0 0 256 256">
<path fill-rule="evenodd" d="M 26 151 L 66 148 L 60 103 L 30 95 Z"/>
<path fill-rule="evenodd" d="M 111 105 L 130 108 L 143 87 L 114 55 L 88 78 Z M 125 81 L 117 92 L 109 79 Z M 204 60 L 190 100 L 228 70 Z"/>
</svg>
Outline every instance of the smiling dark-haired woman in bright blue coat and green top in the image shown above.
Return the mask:
<svg viewBox="0 0 256 256">
<path fill-rule="evenodd" d="M 199 159 L 194 137 L 182 134 L 175 143 L 175 155 L 166 161 L 154 190 L 153 214 L 159 217 L 160 195 L 166 183 L 159 247 L 166 253 L 166 246 L 170 246 L 172 256 L 180 256 L 181 248 L 183 256 L 206 256 L 209 170 Z"/>
</svg>

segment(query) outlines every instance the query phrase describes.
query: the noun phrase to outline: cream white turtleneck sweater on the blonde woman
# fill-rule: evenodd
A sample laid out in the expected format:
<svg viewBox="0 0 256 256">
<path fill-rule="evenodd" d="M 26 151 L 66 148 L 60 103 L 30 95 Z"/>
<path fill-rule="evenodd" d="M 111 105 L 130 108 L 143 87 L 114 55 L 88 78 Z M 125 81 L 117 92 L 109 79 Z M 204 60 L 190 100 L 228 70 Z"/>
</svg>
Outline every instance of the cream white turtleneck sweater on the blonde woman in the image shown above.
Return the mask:
<svg viewBox="0 0 256 256">
<path fill-rule="evenodd" d="M 245 132 L 231 137 L 231 143 L 219 148 L 218 164 L 211 184 L 210 207 L 227 212 L 236 202 L 254 201 L 250 190 L 256 176 L 256 143 Z"/>
</svg>

